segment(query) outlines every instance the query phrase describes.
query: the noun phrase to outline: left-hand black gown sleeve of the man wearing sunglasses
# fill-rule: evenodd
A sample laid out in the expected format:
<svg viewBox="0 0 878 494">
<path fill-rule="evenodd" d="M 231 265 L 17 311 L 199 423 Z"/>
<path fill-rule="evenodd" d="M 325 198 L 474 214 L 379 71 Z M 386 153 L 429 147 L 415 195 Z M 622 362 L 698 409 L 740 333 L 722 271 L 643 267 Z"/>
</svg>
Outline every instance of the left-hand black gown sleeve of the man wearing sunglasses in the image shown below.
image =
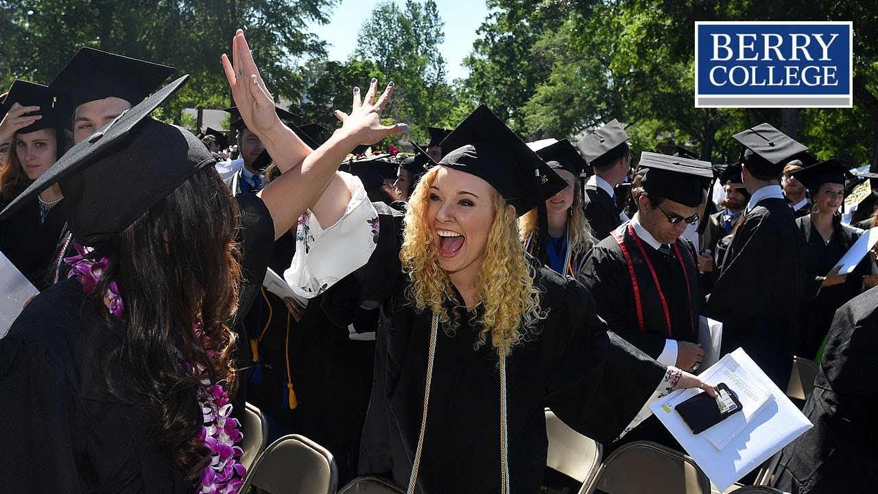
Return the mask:
<svg viewBox="0 0 878 494">
<path fill-rule="evenodd" d="M 628 279 L 630 272 L 625 267 L 624 259 L 618 258 L 603 245 L 592 250 L 579 275 L 579 282 L 594 294 L 598 316 L 607 323 L 608 329 L 652 359 L 657 359 L 665 349 L 666 338 L 631 326 L 631 321 L 636 320 L 637 315 L 631 314 L 629 301 L 634 294 L 624 281 Z"/>
</svg>

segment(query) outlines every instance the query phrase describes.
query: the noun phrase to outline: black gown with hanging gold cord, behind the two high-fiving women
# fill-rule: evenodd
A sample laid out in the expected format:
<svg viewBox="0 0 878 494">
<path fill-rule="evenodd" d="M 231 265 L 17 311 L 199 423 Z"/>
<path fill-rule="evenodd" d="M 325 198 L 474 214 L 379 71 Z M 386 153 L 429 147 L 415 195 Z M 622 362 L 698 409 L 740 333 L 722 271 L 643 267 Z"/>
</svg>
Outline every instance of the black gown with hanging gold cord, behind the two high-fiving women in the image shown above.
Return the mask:
<svg viewBox="0 0 878 494">
<path fill-rule="evenodd" d="M 290 232 L 278 238 L 271 269 L 283 276 L 295 250 Z M 256 297 L 244 318 L 251 345 L 253 339 L 259 340 L 259 361 L 250 364 L 248 373 L 247 401 L 268 416 L 270 442 L 286 434 L 302 434 L 326 447 L 338 465 L 339 483 L 344 484 L 356 476 L 375 341 L 351 339 L 347 326 L 332 323 L 327 316 L 332 307 L 323 307 L 324 298 L 321 294 L 309 301 L 297 323 L 277 295 L 263 289 Z M 359 320 L 355 324 L 362 326 Z M 289 406 L 288 366 L 298 401 L 295 409 Z"/>
</svg>

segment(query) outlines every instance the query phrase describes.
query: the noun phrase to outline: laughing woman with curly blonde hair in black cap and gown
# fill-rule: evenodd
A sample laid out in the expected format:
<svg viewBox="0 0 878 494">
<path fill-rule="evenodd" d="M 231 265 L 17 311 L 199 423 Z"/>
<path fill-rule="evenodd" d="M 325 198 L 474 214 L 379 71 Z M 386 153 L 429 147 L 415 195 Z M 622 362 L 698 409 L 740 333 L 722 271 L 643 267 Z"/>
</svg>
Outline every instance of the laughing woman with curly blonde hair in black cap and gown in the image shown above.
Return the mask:
<svg viewBox="0 0 878 494">
<path fill-rule="evenodd" d="M 702 381 L 608 333 L 579 283 L 525 256 L 518 216 L 567 184 L 496 115 L 480 105 L 446 147 L 405 214 L 353 218 L 377 235 L 363 268 L 346 276 L 332 272 L 333 258 L 313 257 L 356 251 L 335 235 L 348 215 L 330 230 L 314 212 L 285 278 L 302 294 L 326 293 L 341 279 L 350 305 L 386 316 L 361 473 L 389 476 L 409 492 L 536 493 L 546 406 L 609 441 L 651 397 Z"/>
</svg>

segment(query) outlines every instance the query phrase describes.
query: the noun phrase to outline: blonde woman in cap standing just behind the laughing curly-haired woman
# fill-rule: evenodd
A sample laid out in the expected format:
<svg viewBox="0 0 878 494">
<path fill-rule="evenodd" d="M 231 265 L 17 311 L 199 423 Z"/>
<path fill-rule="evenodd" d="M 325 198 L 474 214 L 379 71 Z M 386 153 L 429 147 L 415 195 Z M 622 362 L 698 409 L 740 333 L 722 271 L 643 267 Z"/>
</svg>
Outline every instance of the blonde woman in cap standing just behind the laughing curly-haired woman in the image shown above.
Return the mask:
<svg viewBox="0 0 878 494">
<path fill-rule="evenodd" d="M 579 175 L 586 162 L 566 139 L 536 149 L 536 155 L 567 186 L 546 200 L 544 206 L 522 216 L 519 227 L 524 249 L 555 272 L 576 278 L 588 251 L 598 242 L 582 207 Z"/>
</svg>

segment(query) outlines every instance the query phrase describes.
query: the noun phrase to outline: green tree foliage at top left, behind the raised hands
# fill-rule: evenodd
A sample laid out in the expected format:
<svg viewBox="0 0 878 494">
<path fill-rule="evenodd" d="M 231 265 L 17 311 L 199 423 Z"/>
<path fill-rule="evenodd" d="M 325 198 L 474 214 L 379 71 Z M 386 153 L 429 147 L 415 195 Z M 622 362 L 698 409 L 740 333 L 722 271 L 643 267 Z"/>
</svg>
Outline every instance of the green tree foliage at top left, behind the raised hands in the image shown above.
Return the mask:
<svg viewBox="0 0 878 494">
<path fill-rule="evenodd" d="M 0 84 L 15 77 L 47 84 L 79 47 L 97 47 L 177 68 L 190 84 L 163 109 L 229 103 L 219 55 L 234 30 L 247 32 L 266 84 L 276 97 L 299 98 L 299 59 L 324 53 L 306 22 L 326 22 L 335 0 L 0 0 Z M 26 12 L 32 13 L 27 14 Z"/>
</svg>

